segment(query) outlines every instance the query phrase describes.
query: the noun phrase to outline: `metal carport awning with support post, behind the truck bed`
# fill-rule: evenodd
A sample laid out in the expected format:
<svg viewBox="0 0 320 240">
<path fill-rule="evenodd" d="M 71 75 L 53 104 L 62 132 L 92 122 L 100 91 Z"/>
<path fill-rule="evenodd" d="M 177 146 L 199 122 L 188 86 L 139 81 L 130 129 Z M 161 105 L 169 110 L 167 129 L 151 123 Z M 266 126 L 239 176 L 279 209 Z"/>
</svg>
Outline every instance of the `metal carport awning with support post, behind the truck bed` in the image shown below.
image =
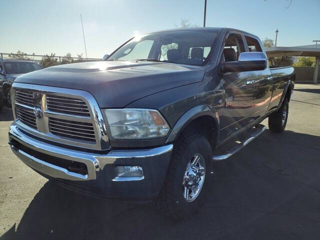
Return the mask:
<svg viewBox="0 0 320 240">
<path fill-rule="evenodd" d="M 311 45 L 312 46 L 312 45 Z M 320 47 L 309 46 L 274 46 L 265 49 L 268 57 L 274 56 L 314 56 L 315 57 L 315 69 L 313 75 L 313 83 L 317 82 L 317 76 L 319 72 L 320 61 Z"/>
</svg>

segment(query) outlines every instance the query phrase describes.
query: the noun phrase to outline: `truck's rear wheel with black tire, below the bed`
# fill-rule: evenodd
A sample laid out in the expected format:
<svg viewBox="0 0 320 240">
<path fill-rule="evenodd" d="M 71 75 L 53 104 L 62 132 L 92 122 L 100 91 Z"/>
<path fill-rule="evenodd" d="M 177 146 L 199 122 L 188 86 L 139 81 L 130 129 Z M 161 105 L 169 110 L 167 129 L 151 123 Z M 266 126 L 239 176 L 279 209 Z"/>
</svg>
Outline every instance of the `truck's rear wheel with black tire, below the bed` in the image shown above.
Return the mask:
<svg viewBox="0 0 320 240">
<path fill-rule="evenodd" d="M 288 112 L 289 102 L 287 98 L 284 98 L 280 108 L 269 116 L 269 130 L 277 133 L 284 131 L 286 121 L 288 119 Z"/>
</svg>

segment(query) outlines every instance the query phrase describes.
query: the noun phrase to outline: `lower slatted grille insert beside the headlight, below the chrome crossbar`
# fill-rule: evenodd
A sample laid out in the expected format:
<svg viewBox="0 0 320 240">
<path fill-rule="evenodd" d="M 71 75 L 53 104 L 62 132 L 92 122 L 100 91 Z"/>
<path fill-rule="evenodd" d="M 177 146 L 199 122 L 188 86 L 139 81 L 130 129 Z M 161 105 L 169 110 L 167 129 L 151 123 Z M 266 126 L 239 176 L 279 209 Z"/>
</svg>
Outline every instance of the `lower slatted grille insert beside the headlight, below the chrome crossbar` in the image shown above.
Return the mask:
<svg viewBox="0 0 320 240">
<path fill-rule="evenodd" d="M 95 142 L 92 123 L 49 117 L 49 128 L 55 135 Z"/>
</svg>

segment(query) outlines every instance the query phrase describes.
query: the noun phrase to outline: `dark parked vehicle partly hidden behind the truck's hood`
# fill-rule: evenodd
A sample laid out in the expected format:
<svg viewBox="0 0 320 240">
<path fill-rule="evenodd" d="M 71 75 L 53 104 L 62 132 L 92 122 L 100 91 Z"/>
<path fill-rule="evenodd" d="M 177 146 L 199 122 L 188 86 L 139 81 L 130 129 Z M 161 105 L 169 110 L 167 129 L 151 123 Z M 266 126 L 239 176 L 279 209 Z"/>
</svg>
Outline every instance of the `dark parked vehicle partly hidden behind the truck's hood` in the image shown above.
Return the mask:
<svg viewBox="0 0 320 240">
<path fill-rule="evenodd" d="M 4 98 L 11 106 L 10 89 L 14 79 L 24 73 L 40 70 L 43 67 L 36 61 L 29 59 L 2 59 L 0 58 L 0 84 Z"/>
</svg>

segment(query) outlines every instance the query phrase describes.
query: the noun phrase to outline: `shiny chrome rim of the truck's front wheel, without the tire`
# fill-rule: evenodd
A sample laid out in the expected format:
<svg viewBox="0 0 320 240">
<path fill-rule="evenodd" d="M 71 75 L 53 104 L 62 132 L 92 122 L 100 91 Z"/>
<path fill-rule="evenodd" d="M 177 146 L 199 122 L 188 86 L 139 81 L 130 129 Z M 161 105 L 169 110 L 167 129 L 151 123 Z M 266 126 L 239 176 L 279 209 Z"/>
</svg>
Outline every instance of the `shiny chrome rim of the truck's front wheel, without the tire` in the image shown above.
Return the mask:
<svg viewBox="0 0 320 240">
<path fill-rule="evenodd" d="M 186 166 L 182 186 L 183 197 L 187 202 L 193 201 L 200 193 L 205 177 L 205 159 L 195 153 Z"/>
</svg>

